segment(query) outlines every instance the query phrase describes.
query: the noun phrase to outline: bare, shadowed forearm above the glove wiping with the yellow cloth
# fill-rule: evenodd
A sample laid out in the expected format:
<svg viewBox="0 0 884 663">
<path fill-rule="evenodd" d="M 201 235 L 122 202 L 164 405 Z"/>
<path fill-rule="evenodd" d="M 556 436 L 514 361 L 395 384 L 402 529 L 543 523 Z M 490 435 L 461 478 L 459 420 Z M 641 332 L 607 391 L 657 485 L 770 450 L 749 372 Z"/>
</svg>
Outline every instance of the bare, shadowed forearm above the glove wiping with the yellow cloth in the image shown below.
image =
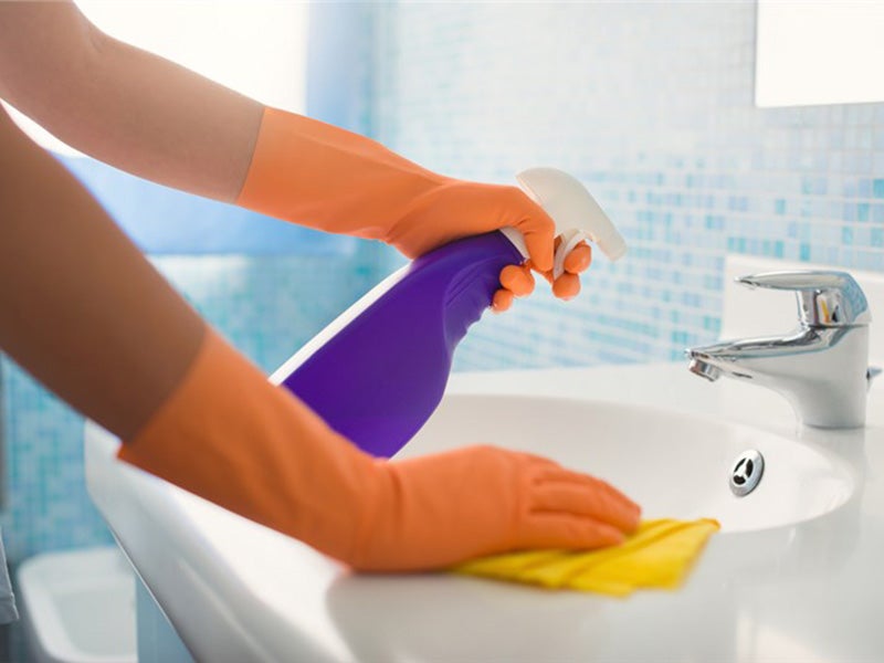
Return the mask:
<svg viewBox="0 0 884 663">
<path fill-rule="evenodd" d="M 0 109 L 0 349 L 128 438 L 203 333 L 101 206 Z"/>
</svg>

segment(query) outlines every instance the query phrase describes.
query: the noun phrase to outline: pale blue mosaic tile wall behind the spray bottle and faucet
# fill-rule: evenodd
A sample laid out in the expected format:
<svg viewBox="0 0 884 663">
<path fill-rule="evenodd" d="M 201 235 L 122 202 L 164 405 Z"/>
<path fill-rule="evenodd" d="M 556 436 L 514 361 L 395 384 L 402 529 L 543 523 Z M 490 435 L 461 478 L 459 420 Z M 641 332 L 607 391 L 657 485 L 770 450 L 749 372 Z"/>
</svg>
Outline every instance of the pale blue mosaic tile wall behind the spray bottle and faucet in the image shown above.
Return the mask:
<svg viewBox="0 0 884 663">
<path fill-rule="evenodd" d="M 377 137 L 455 177 L 581 179 L 630 243 L 570 303 L 486 316 L 457 369 L 681 360 L 727 253 L 884 271 L 884 104 L 754 106 L 754 2 L 390 3 Z"/>
</svg>

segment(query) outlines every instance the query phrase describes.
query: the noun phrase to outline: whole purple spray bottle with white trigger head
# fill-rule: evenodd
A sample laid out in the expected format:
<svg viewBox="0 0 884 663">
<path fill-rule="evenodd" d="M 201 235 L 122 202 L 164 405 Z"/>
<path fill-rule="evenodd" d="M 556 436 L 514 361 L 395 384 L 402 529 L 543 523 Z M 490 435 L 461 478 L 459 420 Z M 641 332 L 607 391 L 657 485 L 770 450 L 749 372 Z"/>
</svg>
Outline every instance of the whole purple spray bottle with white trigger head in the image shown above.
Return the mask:
<svg viewBox="0 0 884 663">
<path fill-rule="evenodd" d="M 561 243 L 555 276 L 587 238 L 611 260 L 625 253 L 623 238 L 575 178 L 533 168 L 517 180 L 556 222 Z M 271 381 L 287 387 L 364 451 L 389 457 L 442 400 L 454 348 L 491 305 L 501 270 L 527 256 L 522 234 L 512 228 L 435 249 L 344 312 Z"/>
</svg>

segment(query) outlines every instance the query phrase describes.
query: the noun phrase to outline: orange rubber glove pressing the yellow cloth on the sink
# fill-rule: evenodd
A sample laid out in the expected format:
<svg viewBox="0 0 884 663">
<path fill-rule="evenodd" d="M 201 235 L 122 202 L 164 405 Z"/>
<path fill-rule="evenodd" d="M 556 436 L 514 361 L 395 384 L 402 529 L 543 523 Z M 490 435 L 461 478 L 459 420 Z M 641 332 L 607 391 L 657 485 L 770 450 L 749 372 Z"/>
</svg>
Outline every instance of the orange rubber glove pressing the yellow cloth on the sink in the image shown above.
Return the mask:
<svg viewBox="0 0 884 663">
<path fill-rule="evenodd" d="M 360 570 L 597 548 L 639 523 L 613 487 L 534 455 L 471 446 L 376 460 L 208 329 L 185 378 L 118 455 Z"/>
</svg>

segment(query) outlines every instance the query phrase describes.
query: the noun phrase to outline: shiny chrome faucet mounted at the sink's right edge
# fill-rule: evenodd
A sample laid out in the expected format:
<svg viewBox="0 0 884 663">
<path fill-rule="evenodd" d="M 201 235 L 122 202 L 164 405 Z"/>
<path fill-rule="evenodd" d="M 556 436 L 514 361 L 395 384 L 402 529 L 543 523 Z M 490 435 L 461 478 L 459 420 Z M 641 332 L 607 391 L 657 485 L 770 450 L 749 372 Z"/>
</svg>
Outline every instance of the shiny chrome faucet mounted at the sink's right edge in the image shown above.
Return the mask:
<svg viewBox="0 0 884 663">
<path fill-rule="evenodd" d="M 749 287 L 794 291 L 799 327 L 786 336 L 746 338 L 686 350 L 690 370 L 711 381 L 753 380 L 785 396 L 801 422 L 819 428 L 865 424 L 872 316 L 845 272 L 768 272 L 737 278 Z"/>
</svg>

